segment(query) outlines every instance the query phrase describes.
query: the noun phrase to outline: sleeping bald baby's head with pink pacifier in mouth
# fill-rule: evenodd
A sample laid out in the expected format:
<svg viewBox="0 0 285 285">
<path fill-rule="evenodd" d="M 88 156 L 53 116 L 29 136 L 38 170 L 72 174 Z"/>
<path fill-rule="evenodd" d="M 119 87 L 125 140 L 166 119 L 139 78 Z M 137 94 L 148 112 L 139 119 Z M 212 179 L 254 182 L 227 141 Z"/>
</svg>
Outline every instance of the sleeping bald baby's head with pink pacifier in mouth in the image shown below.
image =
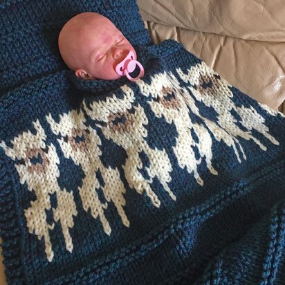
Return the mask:
<svg viewBox="0 0 285 285">
<path fill-rule="evenodd" d="M 136 51 L 106 17 L 84 12 L 70 19 L 59 33 L 59 52 L 66 65 L 84 80 L 136 80 L 144 75 Z M 138 77 L 129 75 L 136 65 Z"/>
</svg>

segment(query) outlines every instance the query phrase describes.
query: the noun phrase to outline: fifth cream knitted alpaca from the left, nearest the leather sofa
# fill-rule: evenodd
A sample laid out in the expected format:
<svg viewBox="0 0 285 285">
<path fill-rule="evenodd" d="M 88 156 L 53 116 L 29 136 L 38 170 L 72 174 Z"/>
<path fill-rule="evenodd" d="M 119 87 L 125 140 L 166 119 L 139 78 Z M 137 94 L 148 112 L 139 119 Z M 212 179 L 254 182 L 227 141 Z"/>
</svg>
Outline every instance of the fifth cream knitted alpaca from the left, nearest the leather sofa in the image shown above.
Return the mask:
<svg viewBox="0 0 285 285">
<path fill-rule="evenodd" d="M 244 154 L 243 148 L 237 140 L 238 137 L 245 140 L 253 140 L 262 150 L 266 151 L 266 147 L 253 136 L 251 132 L 252 129 L 259 131 L 259 133 L 268 138 L 271 143 L 279 145 L 277 140 L 268 133 L 268 127 L 264 125 L 264 118 L 262 118 L 262 116 L 252 107 L 237 107 L 235 103 L 230 100 L 233 96 L 232 91 L 230 91 L 229 88 L 230 84 L 219 77 L 219 75 L 204 62 L 192 66 L 187 73 L 183 73 L 180 68 L 177 69 L 177 72 L 181 77 L 181 80 L 191 84 L 188 88 L 196 100 L 203 102 L 207 107 L 212 107 L 218 113 L 217 124 L 207 119 L 205 120 L 205 124 L 218 141 L 223 140 L 228 146 L 232 146 L 233 149 L 235 149 L 235 154 L 239 163 L 241 163 L 241 159 L 239 158 L 236 144 L 239 145 L 239 149 L 241 150 L 244 159 L 246 159 L 246 154 Z M 208 87 L 201 87 L 202 84 L 208 84 Z M 212 86 L 214 86 L 214 88 L 212 88 Z M 217 92 L 217 90 L 219 90 L 219 92 Z M 219 104 L 219 102 L 221 102 L 221 96 L 223 97 L 222 109 Z M 187 98 L 189 102 L 191 102 L 190 104 L 188 103 L 188 105 L 193 104 L 193 98 L 191 98 L 190 95 L 187 95 Z M 237 120 L 230 113 L 232 110 L 235 110 L 239 114 L 241 117 L 239 122 L 247 129 L 247 131 L 243 131 L 237 125 Z M 201 118 L 203 118 L 203 116 L 201 116 Z M 252 118 L 255 118 L 255 120 L 252 120 Z"/>
</svg>

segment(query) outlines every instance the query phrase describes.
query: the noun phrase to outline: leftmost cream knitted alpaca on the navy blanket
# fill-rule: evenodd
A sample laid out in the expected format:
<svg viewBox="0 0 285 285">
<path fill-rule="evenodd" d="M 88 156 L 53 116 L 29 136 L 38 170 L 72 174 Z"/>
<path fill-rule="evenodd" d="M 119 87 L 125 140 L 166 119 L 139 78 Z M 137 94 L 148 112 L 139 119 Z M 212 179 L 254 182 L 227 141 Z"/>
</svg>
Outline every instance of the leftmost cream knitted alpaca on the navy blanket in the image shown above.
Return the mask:
<svg viewBox="0 0 285 285">
<path fill-rule="evenodd" d="M 7 156 L 12 160 L 21 160 L 15 165 L 20 176 L 21 184 L 27 183 L 28 190 L 34 191 L 37 199 L 30 202 L 30 208 L 24 210 L 29 232 L 37 235 L 39 240 L 44 237 L 45 252 L 48 261 L 53 260 L 52 243 L 48 230 L 53 230 L 55 224 L 46 221 L 46 210 L 50 210 L 50 194 L 57 194 L 57 208 L 53 208 L 53 219 L 61 222 L 62 232 L 66 243 L 66 250 L 72 252 L 73 243 L 68 228 L 73 228 L 73 215 L 77 215 L 73 192 L 66 192 L 59 188 L 57 177 L 59 177 L 59 158 L 53 144 L 46 145 L 46 134 L 39 124 L 33 122 L 37 134 L 30 131 L 24 132 L 12 140 L 13 148 L 1 142 Z M 42 163 L 33 163 L 32 158 L 41 157 Z M 42 183 L 45 181 L 45 183 Z M 66 211 L 68 208 L 68 211 Z"/>
</svg>

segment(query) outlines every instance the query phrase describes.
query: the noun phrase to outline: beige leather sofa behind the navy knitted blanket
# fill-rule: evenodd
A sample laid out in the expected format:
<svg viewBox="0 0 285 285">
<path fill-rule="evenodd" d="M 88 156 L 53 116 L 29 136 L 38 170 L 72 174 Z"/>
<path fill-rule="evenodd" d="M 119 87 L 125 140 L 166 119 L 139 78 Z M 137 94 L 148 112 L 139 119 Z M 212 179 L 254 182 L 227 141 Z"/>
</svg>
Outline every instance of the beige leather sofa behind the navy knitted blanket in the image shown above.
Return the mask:
<svg viewBox="0 0 285 285">
<path fill-rule="evenodd" d="M 285 113 L 284 0 L 138 0 L 138 6 L 155 43 L 176 39 L 230 84 Z M 4 279 L 0 247 L 1 285 Z"/>
</svg>

